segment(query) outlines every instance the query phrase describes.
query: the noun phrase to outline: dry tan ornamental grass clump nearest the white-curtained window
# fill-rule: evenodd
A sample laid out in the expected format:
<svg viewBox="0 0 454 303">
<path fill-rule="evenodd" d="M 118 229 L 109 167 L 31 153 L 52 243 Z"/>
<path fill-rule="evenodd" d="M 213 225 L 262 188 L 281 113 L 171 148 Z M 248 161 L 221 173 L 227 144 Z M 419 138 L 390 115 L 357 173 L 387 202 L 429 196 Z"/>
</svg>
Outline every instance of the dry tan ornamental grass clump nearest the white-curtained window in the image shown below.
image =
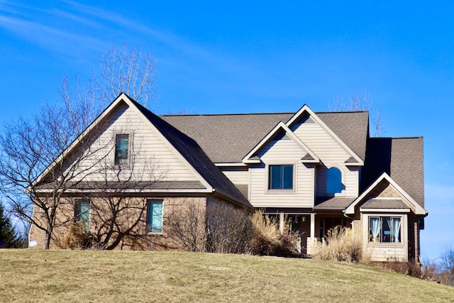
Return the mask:
<svg viewBox="0 0 454 303">
<path fill-rule="evenodd" d="M 316 243 L 315 257 L 319 260 L 358 263 L 361 255 L 361 238 L 352 228 L 333 227 L 326 234 L 325 243 Z"/>
</svg>

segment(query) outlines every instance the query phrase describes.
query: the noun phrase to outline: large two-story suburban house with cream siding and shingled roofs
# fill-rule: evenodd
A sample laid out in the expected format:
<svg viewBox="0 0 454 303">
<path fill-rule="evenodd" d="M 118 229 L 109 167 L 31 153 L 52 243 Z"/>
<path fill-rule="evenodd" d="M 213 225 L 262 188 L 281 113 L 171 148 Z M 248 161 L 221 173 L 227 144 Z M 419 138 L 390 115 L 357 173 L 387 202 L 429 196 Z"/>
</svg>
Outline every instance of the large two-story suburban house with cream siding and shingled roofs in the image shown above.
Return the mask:
<svg viewBox="0 0 454 303">
<path fill-rule="evenodd" d="M 170 202 L 191 198 L 263 209 L 281 224 L 289 219 L 303 233 L 301 248 L 309 255 L 317 238 L 341 225 L 362 235 L 372 260 L 419 260 L 428 214 L 423 139 L 370 138 L 367 111 L 314 113 L 304 105 L 296 113 L 158 117 L 121 94 L 94 125 L 103 121 L 93 145 L 110 146 L 103 159 L 111 172 L 126 166 L 125 176 L 118 177 L 121 171 L 113 174 L 116 182 L 104 183 L 131 181 L 118 195 L 148 203 L 146 221 L 156 227 L 150 232 L 165 234 L 165 222 L 153 214 L 162 218 Z M 74 141 L 65 153 L 76 150 Z M 153 171 L 159 178 L 145 178 L 147 156 L 158 164 Z M 92 166 L 87 171 L 103 171 L 106 180 L 105 169 Z M 38 180 L 43 189 L 52 186 L 50 172 L 52 167 Z M 99 173 L 82 175 L 74 194 L 99 190 L 99 183 L 84 187 L 101 182 Z M 106 192 L 109 186 L 103 186 Z M 38 233 L 32 229 L 31 240 Z"/>
</svg>

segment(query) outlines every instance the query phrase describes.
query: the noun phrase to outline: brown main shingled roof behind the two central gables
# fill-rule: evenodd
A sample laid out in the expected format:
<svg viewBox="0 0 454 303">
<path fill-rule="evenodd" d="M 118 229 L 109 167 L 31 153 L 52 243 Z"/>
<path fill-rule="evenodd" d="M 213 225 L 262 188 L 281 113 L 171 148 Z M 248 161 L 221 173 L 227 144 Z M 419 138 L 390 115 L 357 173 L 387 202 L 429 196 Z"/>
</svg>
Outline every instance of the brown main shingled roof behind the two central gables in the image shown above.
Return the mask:
<svg viewBox="0 0 454 303">
<path fill-rule="evenodd" d="M 316 113 L 362 160 L 369 123 L 367 111 Z M 162 119 L 193 138 L 214 163 L 240 163 L 262 138 L 294 113 L 164 115 Z"/>
</svg>

